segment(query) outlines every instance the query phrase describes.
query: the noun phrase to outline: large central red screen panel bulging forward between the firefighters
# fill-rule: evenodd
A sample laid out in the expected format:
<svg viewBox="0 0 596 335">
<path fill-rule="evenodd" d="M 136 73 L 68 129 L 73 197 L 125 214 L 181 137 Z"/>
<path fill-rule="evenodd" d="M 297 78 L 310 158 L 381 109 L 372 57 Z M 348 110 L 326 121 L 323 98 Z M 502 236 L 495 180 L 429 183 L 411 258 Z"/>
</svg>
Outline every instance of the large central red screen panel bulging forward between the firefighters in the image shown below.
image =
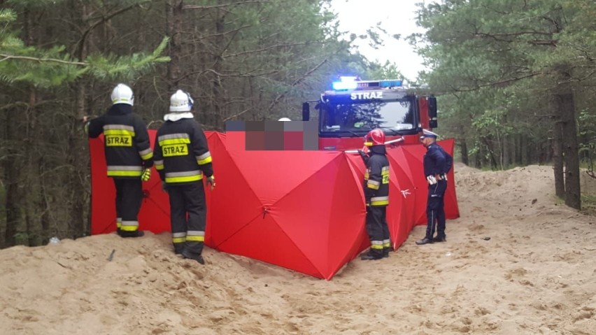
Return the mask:
<svg viewBox="0 0 596 335">
<path fill-rule="evenodd" d="M 208 245 L 330 279 L 362 249 L 364 197 L 343 152 L 214 150 Z M 221 145 L 221 144 L 219 144 Z M 217 148 L 218 145 L 213 145 Z"/>
</svg>

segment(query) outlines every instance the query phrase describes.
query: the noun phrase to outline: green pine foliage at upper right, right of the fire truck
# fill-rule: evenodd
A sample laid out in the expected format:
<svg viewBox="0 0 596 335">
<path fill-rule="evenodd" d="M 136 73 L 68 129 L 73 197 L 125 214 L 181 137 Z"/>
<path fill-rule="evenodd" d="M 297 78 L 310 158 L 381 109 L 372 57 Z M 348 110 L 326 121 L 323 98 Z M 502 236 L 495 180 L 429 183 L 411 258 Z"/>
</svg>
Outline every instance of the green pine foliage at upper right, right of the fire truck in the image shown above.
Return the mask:
<svg viewBox="0 0 596 335">
<path fill-rule="evenodd" d="M 559 67 L 572 70 L 577 97 L 593 95 L 595 14 L 596 3 L 589 0 L 446 0 L 421 6 L 418 24 L 427 33 L 409 39 L 422 45 L 418 50 L 432 69 L 421 80 L 440 95 L 441 131 L 466 141 L 471 155 L 520 137 L 548 150 L 550 97 L 562 84 L 555 76 Z"/>
</svg>

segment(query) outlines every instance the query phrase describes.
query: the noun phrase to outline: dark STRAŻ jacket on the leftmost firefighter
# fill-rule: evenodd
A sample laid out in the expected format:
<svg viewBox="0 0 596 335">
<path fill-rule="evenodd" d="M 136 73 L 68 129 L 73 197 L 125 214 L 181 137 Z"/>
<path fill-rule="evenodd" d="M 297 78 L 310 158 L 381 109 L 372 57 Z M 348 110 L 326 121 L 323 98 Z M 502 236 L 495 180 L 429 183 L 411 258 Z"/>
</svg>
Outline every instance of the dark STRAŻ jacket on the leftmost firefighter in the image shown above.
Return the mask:
<svg viewBox="0 0 596 335">
<path fill-rule="evenodd" d="M 132 113 L 132 106 L 115 104 L 87 127 L 91 138 L 104 133 L 109 177 L 140 177 L 143 169 L 153 166 L 147 127 L 139 115 Z"/>
</svg>

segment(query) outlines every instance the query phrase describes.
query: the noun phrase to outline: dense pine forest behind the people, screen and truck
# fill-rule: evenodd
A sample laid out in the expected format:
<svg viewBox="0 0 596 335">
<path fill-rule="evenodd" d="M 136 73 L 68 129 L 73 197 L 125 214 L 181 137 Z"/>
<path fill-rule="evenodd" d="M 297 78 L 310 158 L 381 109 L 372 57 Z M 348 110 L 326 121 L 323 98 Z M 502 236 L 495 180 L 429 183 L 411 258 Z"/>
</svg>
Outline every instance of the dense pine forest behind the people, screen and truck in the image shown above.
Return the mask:
<svg viewBox="0 0 596 335">
<path fill-rule="evenodd" d="M 367 8 L 366 10 L 374 10 Z M 402 78 L 355 41 L 406 38 L 438 97 L 441 136 L 486 169 L 553 164 L 557 194 L 581 208 L 579 166 L 596 134 L 593 0 L 419 4 L 425 34 L 341 31 L 329 0 L 0 0 L 0 248 L 89 234 L 82 118 L 117 83 L 160 125 L 190 92 L 205 129 L 227 120 L 299 120 L 339 74 Z M 591 171 L 591 169 L 590 169 Z"/>
</svg>

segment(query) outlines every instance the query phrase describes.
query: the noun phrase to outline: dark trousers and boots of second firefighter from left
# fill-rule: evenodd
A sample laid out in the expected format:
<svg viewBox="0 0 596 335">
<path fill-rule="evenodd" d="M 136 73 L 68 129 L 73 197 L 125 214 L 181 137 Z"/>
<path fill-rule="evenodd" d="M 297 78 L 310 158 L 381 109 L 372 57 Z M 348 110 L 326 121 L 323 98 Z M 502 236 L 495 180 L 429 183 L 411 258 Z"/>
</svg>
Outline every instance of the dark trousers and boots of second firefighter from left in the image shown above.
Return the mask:
<svg viewBox="0 0 596 335">
<path fill-rule="evenodd" d="M 203 252 L 207 206 L 203 180 L 167 186 L 174 252 L 185 250 L 196 256 Z"/>
</svg>

